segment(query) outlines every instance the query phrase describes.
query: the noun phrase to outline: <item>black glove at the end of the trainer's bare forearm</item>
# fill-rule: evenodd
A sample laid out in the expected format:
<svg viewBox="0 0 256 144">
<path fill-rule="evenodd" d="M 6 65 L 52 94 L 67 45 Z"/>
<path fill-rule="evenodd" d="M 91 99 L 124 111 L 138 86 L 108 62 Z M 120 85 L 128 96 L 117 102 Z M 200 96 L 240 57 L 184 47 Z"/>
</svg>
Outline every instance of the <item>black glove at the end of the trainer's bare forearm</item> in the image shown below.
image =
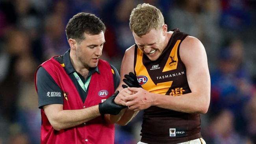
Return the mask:
<svg viewBox="0 0 256 144">
<path fill-rule="evenodd" d="M 99 111 L 101 115 L 104 115 L 104 114 L 117 115 L 120 113 L 122 109 L 127 107 L 123 105 L 118 105 L 114 102 L 117 94 L 119 94 L 118 90 L 112 96 L 110 96 L 107 100 L 105 100 L 102 103 L 99 103 Z"/>
</svg>

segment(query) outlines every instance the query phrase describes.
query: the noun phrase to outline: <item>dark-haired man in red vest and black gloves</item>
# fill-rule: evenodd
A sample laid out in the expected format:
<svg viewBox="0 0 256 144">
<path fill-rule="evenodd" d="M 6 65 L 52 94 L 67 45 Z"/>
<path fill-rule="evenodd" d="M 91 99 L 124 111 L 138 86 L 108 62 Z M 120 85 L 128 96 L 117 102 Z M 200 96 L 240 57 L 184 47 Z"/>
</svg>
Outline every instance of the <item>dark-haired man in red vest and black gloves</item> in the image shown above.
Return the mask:
<svg viewBox="0 0 256 144">
<path fill-rule="evenodd" d="M 70 49 L 38 67 L 42 144 L 114 143 L 114 123 L 125 107 L 113 102 L 119 73 L 99 59 L 105 30 L 93 14 L 74 15 L 66 27 Z"/>
</svg>

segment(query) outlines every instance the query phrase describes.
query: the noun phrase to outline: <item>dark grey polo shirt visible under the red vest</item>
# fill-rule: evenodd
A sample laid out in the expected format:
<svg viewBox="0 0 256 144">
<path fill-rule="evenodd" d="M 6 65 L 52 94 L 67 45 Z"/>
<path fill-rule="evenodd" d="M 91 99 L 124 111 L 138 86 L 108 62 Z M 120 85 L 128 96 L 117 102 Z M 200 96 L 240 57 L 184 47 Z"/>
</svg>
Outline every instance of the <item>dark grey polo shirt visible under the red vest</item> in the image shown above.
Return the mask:
<svg viewBox="0 0 256 144">
<path fill-rule="evenodd" d="M 87 97 L 90 85 L 87 87 L 86 92 L 82 89 L 82 87 L 80 87 L 78 81 L 76 80 L 76 78 L 73 74 L 73 72 L 76 72 L 76 70 L 74 69 L 74 67 L 70 61 L 69 52 L 70 52 L 70 50 L 68 50 L 64 55 L 55 57 L 54 59 L 56 59 L 61 64 L 62 63 L 65 64 L 65 67 L 64 67 L 65 71 L 67 72 L 67 74 L 69 75 L 69 78 L 74 83 L 74 86 L 76 87 L 76 89 L 80 95 L 80 98 L 81 98 L 82 102 L 84 103 L 85 99 Z M 120 76 L 119 76 L 117 69 L 112 65 L 110 65 L 110 66 L 114 70 L 114 73 L 115 73 L 115 74 L 113 74 L 114 89 L 117 89 L 117 87 L 120 83 Z M 43 70 L 41 70 L 41 69 L 43 69 Z M 39 70 L 40 70 L 40 77 L 41 77 L 41 80 L 37 79 L 38 97 L 40 97 L 40 98 L 38 98 L 39 108 L 41 108 L 43 105 L 48 105 L 48 104 L 55 104 L 55 103 L 63 104 L 63 98 L 62 98 L 63 94 L 61 92 L 61 89 L 57 85 L 57 83 L 54 81 L 54 79 L 50 76 L 50 74 L 48 74 L 48 72 L 43 67 L 40 67 Z M 37 78 L 39 77 L 39 74 L 38 74 L 39 70 L 37 71 Z M 90 75 L 92 75 L 94 72 L 100 73 L 98 70 L 98 67 L 90 68 L 86 79 L 84 79 L 83 76 L 80 75 L 78 72 L 76 72 L 76 73 L 78 74 L 80 79 L 83 81 L 83 83 L 85 83 L 85 81 L 88 79 L 88 77 Z M 44 89 L 41 89 L 41 87 L 38 87 L 38 85 L 43 85 Z M 47 94 L 47 92 L 49 90 L 53 90 L 54 92 L 55 91 L 61 92 L 61 94 L 62 94 L 61 100 L 59 97 L 56 97 L 56 99 L 54 99 L 54 98 L 49 99 L 48 97 L 45 97 L 44 96 L 45 93 Z M 40 91 L 40 94 L 39 94 L 39 91 Z M 52 100 L 52 99 L 54 99 L 54 100 Z"/>
</svg>

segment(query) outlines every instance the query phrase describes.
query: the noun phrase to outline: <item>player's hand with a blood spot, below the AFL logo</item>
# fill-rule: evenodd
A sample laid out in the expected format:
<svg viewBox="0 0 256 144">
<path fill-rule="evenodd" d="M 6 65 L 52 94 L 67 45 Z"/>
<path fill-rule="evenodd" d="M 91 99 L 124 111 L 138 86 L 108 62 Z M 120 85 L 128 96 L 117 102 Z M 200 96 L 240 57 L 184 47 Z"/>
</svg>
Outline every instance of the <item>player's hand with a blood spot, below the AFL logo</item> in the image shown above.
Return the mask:
<svg viewBox="0 0 256 144">
<path fill-rule="evenodd" d="M 135 88 L 135 87 L 128 87 L 128 90 L 133 91 L 135 94 L 125 97 L 126 106 L 133 111 L 140 111 L 143 109 L 147 109 L 150 106 L 153 106 L 155 97 L 151 95 L 145 89 L 142 88 Z"/>
</svg>

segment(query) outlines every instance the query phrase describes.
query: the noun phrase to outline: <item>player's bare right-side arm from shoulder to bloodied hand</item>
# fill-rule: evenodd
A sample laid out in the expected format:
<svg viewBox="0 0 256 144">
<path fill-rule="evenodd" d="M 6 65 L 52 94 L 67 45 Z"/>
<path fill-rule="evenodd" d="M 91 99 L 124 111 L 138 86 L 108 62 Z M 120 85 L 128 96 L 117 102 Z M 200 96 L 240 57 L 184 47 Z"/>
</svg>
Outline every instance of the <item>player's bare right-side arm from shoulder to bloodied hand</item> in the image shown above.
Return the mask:
<svg viewBox="0 0 256 144">
<path fill-rule="evenodd" d="M 188 36 L 180 45 L 180 57 L 186 66 L 191 93 L 165 96 L 142 88 L 128 88 L 135 94 L 126 97 L 130 101 L 126 105 L 135 111 L 154 105 L 184 113 L 206 113 L 210 105 L 210 74 L 204 46 L 197 38 Z"/>
</svg>

